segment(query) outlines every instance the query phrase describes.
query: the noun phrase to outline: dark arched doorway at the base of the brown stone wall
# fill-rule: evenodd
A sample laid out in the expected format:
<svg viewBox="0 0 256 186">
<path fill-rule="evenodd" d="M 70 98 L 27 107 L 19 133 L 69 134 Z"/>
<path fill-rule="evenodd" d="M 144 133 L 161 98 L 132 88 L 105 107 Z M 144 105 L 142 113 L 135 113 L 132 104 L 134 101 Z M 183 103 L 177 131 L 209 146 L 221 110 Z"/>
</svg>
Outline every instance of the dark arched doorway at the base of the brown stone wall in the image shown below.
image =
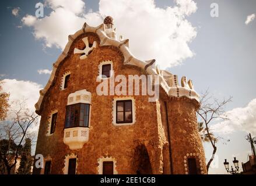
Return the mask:
<svg viewBox="0 0 256 186">
<path fill-rule="evenodd" d="M 152 174 L 152 167 L 145 145 L 139 145 L 134 152 L 134 174 Z"/>
</svg>

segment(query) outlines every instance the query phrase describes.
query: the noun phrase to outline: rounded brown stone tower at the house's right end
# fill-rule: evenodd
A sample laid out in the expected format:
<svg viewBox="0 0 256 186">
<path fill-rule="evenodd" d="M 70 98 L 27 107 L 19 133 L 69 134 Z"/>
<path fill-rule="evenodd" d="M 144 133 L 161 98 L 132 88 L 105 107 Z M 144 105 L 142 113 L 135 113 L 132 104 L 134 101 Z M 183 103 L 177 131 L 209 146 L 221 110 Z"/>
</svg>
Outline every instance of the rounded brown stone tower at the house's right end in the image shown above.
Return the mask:
<svg viewBox="0 0 256 186">
<path fill-rule="evenodd" d="M 173 174 L 190 174 L 188 158 L 195 158 L 197 174 L 206 174 L 205 152 L 198 133 L 199 103 L 188 98 L 170 98 L 167 103 Z"/>
</svg>

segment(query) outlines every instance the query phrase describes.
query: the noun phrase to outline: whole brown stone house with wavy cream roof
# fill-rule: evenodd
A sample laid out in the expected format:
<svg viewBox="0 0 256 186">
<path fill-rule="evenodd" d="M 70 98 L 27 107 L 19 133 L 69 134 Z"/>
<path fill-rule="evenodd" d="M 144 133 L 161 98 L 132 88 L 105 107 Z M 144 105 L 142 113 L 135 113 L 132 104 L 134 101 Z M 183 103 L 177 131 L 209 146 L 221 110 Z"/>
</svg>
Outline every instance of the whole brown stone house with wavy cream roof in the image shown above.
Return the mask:
<svg viewBox="0 0 256 186">
<path fill-rule="evenodd" d="M 97 94 L 113 71 L 127 79 L 158 77 L 159 99 Z M 41 116 L 36 155 L 44 156 L 44 168 L 34 166 L 34 174 L 206 174 L 192 81 L 182 77 L 180 85 L 155 60 L 133 56 L 110 16 L 69 35 L 35 106 Z"/>
</svg>

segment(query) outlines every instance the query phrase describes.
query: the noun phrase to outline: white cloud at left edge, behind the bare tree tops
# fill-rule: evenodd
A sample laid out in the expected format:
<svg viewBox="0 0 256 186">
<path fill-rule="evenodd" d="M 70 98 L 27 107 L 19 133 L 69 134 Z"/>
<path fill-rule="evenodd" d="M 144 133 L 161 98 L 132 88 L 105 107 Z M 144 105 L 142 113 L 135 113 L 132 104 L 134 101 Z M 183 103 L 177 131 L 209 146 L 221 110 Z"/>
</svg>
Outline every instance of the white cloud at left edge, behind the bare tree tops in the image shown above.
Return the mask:
<svg viewBox="0 0 256 186">
<path fill-rule="evenodd" d="M 34 111 L 34 104 L 38 101 L 40 96 L 39 90 L 42 89 L 42 85 L 31 81 L 19 81 L 16 79 L 4 79 L 2 84 L 2 91 L 10 93 L 9 103 L 10 110 L 15 104 L 13 102 L 17 100 L 26 100 L 27 108 L 30 111 Z"/>
</svg>

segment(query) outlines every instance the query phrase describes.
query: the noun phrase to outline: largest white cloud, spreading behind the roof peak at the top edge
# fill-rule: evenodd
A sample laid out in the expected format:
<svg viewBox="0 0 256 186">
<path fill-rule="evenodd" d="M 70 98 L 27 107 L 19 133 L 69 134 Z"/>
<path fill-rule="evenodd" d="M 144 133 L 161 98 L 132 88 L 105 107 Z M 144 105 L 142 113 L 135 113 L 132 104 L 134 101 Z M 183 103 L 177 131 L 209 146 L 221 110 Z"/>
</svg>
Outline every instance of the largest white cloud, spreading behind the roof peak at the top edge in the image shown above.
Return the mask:
<svg viewBox="0 0 256 186">
<path fill-rule="evenodd" d="M 46 0 L 52 9 L 43 19 L 27 15 L 22 22 L 33 27 L 36 39 L 46 47 L 64 49 L 68 35 L 82 28 L 103 23 L 105 16 L 112 16 L 117 34 L 129 38 L 131 52 L 142 60 L 156 59 L 162 68 L 179 65 L 194 55 L 188 47 L 197 31 L 185 16 L 197 10 L 192 0 L 174 0 L 177 5 L 157 8 L 155 2 L 142 0 L 100 0 L 99 12 L 85 12 L 82 0 Z M 65 15 L 65 16 L 64 16 Z"/>
</svg>

